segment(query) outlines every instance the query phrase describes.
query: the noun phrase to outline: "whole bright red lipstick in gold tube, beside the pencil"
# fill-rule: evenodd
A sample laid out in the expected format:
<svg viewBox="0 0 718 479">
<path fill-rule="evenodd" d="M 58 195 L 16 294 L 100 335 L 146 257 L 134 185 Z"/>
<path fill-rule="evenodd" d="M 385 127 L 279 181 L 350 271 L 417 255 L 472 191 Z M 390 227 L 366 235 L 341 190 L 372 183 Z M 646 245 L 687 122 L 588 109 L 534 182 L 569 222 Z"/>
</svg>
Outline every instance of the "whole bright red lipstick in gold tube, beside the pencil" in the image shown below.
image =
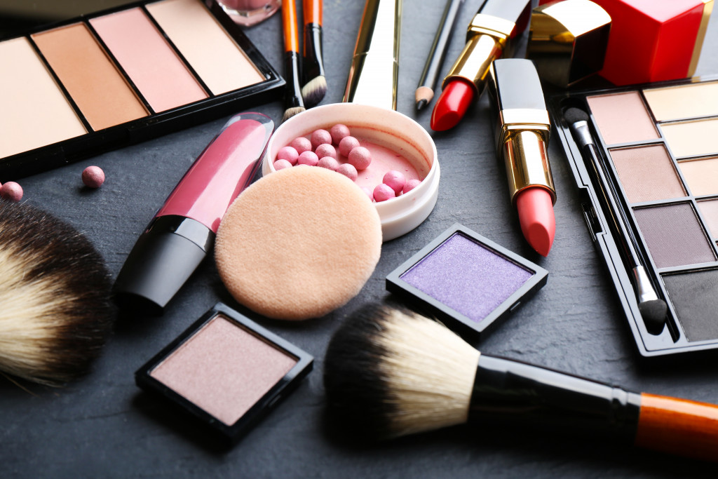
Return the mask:
<svg viewBox="0 0 718 479">
<path fill-rule="evenodd" d="M 466 45 L 449 74 L 432 112 L 432 130 L 453 128 L 481 96 L 491 62 L 510 54 L 513 39 L 528 25 L 531 0 L 486 0 L 466 34 Z"/>
</svg>

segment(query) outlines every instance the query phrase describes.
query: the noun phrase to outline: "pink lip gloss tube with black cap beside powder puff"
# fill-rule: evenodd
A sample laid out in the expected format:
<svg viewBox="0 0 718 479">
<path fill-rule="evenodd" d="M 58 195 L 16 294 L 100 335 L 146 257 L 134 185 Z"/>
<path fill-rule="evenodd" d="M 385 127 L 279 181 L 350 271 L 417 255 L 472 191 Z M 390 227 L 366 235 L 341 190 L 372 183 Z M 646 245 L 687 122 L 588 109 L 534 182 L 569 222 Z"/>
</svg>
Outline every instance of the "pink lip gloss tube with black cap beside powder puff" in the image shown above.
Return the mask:
<svg viewBox="0 0 718 479">
<path fill-rule="evenodd" d="M 187 170 L 130 251 L 113 287 L 120 307 L 160 315 L 210 254 L 227 208 L 251 183 L 274 122 L 239 113 Z"/>
</svg>

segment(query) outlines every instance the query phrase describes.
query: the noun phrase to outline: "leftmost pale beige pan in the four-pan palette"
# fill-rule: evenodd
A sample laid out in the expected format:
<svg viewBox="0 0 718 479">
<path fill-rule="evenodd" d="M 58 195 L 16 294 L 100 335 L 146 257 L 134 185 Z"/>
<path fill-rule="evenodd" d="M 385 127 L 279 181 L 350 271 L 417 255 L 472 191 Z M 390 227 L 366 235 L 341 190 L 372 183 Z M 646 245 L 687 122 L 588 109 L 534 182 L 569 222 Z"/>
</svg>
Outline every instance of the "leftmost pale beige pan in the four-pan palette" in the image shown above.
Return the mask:
<svg viewBox="0 0 718 479">
<path fill-rule="evenodd" d="M 0 157 L 86 133 L 24 37 L 0 42 L 0 105 Z"/>
</svg>

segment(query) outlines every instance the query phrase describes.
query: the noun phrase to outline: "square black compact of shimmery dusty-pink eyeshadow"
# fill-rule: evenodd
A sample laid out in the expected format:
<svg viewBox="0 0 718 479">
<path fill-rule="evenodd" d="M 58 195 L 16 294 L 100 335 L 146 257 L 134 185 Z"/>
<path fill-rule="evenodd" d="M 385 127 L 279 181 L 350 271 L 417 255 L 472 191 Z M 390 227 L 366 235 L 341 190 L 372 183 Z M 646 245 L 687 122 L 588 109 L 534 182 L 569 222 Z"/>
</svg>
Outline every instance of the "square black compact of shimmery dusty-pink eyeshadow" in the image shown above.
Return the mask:
<svg viewBox="0 0 718 479">
<path fill-rule="evenodd" d="M 230 444 L 312 370 L 308 353 L 218 303 L 135 373 Z"/>
</svg>

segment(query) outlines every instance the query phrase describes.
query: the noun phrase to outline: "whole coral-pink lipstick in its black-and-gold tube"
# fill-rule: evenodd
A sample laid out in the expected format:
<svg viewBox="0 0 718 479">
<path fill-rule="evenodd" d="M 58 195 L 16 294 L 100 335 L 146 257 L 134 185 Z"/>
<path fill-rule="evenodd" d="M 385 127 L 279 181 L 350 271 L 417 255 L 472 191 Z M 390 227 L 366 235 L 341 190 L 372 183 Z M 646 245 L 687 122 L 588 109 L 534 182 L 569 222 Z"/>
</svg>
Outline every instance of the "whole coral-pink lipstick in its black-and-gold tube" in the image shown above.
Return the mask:
<svg viewBox="0 0 718 479">
<path fill-rule="evenodd" d="M 488 88 L 495 118 L 498 157 L 508 176 L 521 231 L 538 254 L 548 256 L 556 234 L 556 190 L 547 147 L 551 121 L 531 60 L 496 60 Z"/>
</svg>

